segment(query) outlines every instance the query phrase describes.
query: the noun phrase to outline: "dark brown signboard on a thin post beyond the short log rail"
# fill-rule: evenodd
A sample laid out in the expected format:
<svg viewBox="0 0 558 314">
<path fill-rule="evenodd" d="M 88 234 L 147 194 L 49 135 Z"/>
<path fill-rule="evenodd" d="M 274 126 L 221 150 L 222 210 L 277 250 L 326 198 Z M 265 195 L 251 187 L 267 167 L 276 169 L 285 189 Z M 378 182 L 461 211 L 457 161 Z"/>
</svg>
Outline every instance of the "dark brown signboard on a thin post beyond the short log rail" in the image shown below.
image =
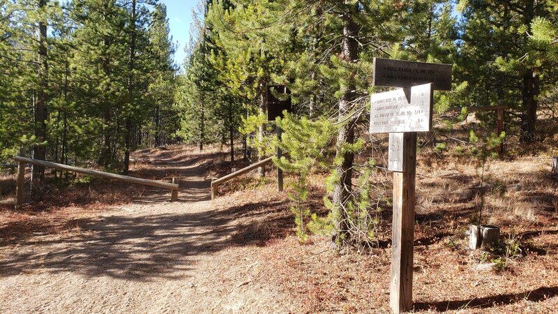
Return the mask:
<svg viewBox="0 0 558 314">
<path fill-rule="evenodd" d="M 276 97 L 273 93 L 278 95 L 284 94 L 286 99 L 280 99 L 281 97 Z M 269 85 L 267 87 L 267 120 L 275 121 L 277 117 L 283 117 L 283 111 L 291 112 L 291 96 L 289 89 L 285 85 Z M 276 126 L 276 135 L 279 140 L 281 140 L 281 127 Z M 281 158 L 282 151 L 280 147 L 277 147 L 277 158 Z M 277 167 L 277 190 L 282 192 L 283 190 L 283 171 L 280 167 Z"/>
</svg>

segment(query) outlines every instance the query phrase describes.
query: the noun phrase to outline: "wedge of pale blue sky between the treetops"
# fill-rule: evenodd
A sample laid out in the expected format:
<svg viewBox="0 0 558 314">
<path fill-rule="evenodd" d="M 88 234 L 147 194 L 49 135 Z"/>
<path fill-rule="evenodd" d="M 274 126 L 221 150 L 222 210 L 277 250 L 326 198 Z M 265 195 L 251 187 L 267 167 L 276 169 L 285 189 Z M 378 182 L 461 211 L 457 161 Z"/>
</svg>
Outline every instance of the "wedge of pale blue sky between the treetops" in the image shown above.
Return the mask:
<svg viewBox="0 0 558 314">
<path fill-rule="evenodd" d="M 192 24 L 192 9 L 196 7 L 199 0 L 161 0 L 167 6 L 170 33 L 172 40 L 179 43 L 174 54 L 174 60 L 181 65 L 186 54 L 184 47 L 190 41 L 190 24 Z"/>
</svg>

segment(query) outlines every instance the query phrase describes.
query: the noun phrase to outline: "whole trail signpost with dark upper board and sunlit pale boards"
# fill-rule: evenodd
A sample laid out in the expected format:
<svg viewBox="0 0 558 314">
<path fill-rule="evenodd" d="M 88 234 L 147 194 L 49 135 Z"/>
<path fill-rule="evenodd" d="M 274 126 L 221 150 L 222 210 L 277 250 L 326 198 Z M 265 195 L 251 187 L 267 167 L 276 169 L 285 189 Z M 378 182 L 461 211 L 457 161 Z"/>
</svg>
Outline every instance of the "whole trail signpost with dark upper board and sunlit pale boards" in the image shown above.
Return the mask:
<svg viewBox="0 0 558 314">
<path fill-rule="evenodd" d="M 389 305 L 393 313 L 402 313 L 413 307 L 416 133 L 431 130 L 433 91 L 451 89 L 451 65 L 375 58 L 373 81 L 377 86 L 403 87 L 370 98 L 370 133 L 389 133 L 388 169 L 393 171 Z"/>
</svg>

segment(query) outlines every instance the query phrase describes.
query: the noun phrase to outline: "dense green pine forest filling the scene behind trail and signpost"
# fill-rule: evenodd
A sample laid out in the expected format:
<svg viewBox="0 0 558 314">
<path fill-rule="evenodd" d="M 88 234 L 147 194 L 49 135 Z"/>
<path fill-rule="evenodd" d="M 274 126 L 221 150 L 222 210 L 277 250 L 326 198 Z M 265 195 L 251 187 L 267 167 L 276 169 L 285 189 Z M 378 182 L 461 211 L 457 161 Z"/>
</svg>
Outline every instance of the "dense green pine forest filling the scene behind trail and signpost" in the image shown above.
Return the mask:
<svg viewBox="0 0 558 314">
<path fill-rule="evenodd" d="M 343 233 L 359 200 L 355 130 L 370 94 L 385 90 L 372 86 L 372 59 L 450 63 L 453 91 L 435 93 L 435 114 L 505 104 L 508 139 L 541 141 L 552 130 L 538 121 L 554 117 L 558 97 L 557 10 L 534 0 L 208 0 L 180 72 L 156 0 L 0 0 L 0 161 L 25 147 L 127 174 L 130 151 L 177 143 L 227 145 L 232 159 L 242 143 L 243 158 L 262 159 L 278 145 L 266 87 L 286 84 L 294 110 L 277 123 L 292 132 L 280 145 L 301 154 L 277 161 L 301 174 L 333 149 L 326 205 Z M 44 179 L 34 167 L 33 184 Z"/>
</svg>

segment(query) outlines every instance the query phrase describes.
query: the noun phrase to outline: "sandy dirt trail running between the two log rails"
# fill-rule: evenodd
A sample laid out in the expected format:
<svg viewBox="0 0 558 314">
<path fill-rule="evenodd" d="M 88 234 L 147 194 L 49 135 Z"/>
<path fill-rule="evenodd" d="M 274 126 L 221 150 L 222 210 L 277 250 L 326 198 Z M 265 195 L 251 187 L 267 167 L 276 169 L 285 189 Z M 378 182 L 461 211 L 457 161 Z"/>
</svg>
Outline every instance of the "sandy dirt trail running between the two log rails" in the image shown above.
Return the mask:
<svg viewBox="0 0 558 314">
<path fill-rule="evenodd" d="M 209 164 L 143 153 L 153 176 L 179 177 L 179 202 L 153 189 L 69 233 L 0 246 L 0 313 L 293 311 L 257 247 L 233 243 L 241 222 L 209 200 Z"/>
</svg>

